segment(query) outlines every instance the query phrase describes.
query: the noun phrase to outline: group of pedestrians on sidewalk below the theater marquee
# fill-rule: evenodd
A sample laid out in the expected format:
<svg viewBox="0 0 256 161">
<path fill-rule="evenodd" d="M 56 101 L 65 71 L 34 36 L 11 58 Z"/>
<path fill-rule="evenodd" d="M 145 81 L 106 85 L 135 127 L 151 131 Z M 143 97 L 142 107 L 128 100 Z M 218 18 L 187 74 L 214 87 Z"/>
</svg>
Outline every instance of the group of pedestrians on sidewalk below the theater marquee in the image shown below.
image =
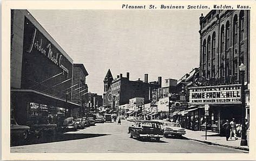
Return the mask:
<svg viewBox="0 0 256 161">
<path fill-rule="evenodd" d="M 245 119 L 245 125 L 247 126 L 246 129 L 248 129 L 248 122 Z M 234 136 L 235 140 L 238 139 L 237 135 L 241 135 L 241 124 L 237 124 L 235 122 L 235 119 L 233 118 L 231 122 L 226 120 L 226 122 L 222 125 L 225 129 L 226 133 L 226 141 L 229 141 L 232 139 L 232 136 Z"/>
</svg>

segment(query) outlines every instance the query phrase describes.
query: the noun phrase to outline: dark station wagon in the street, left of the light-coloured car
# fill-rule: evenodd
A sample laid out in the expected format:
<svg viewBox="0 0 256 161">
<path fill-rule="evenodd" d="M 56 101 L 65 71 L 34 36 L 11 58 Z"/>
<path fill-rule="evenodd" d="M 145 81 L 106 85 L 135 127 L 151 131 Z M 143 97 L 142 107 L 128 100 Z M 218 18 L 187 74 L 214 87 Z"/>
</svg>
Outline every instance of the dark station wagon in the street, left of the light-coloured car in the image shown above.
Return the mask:
<svg viewBox="0 0 256 161">
<path fill-rule="evenodd" d="M 128 133 L 130 138 L 138 139 L 155 138 L 159 141 L 163 137 L 163 129 L 158 121 L 135 121 L 135 124 L 128 128 Z"/>
</svg>

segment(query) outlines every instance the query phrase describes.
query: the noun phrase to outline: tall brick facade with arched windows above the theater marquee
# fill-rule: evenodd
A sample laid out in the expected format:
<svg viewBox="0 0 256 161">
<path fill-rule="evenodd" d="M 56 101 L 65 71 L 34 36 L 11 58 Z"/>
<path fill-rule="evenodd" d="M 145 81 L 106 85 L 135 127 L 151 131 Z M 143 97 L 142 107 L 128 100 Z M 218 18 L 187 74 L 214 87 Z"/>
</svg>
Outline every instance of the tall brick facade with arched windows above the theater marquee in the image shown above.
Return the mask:
<svg viewBox="0 0 256 161">
<path fill-rule="evenodd" d="M 201 80 L 239 82 L 239 66 L 246 66 L 250 83 L 250 10 L 212 10 L 200 17 Z"/>
</svg>

